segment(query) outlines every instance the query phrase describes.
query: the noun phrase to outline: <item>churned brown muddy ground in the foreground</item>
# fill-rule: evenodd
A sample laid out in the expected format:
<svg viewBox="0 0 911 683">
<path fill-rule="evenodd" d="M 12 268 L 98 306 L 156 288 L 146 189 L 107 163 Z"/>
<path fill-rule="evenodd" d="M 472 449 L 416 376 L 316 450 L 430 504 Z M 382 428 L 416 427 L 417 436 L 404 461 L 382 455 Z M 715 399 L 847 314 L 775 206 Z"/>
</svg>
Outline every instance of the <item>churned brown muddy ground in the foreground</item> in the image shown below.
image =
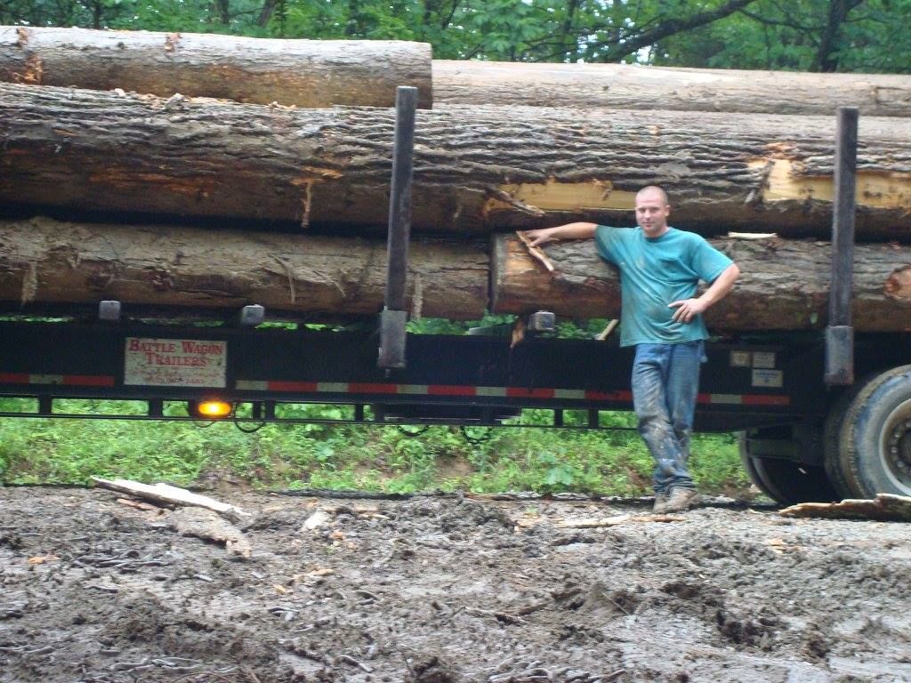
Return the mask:
<svg viewBox="0 0 911 683">
<path fill-rule="evenodd" d="M 250 493 L 228 523 L 118 497 L 0 488 L 3 683 L 911 680 L 909 525 Z"/>
</svg>

